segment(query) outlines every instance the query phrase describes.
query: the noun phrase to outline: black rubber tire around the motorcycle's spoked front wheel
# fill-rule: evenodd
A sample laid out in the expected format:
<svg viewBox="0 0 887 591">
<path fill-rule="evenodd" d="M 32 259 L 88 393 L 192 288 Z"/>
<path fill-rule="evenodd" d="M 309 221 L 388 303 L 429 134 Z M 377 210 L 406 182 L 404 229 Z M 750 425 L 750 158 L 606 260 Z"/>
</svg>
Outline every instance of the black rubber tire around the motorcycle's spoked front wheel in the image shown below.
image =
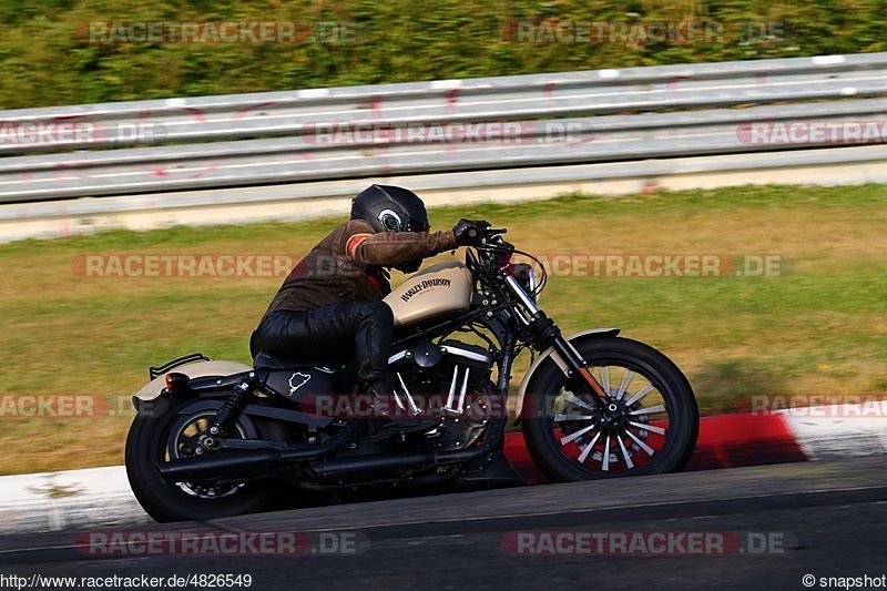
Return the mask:
<svg viewBox="0 0 887 591">
<path fill-rule="evenodd" d="M 585 462 L 579 461 L 581 458 L 571 458 L 553 432 L 552 407 L 564 376 L 553 361 L 547 361 L 531 377 L 523 401 L 527 411 L 522 412 L 527 417 L 522 419 L 523 439 L 540 470 L 554 482 L 681 471 L 696 446 L 699 409 L 693 389 L 677 366 L 656 349 L 628 338 L 589 335 L 572 342 L 572 345 L 590 367 L 619 364 L 643 375 L 654 385 L 667 409 L 667 435 L 663 436 L 661 449 L 646 457 L 643 466 L 629 467 L 625 463 L 619 473 L 590 469 Z M 593 448 L 593 441 L 589 447 Z"/>
</svg>

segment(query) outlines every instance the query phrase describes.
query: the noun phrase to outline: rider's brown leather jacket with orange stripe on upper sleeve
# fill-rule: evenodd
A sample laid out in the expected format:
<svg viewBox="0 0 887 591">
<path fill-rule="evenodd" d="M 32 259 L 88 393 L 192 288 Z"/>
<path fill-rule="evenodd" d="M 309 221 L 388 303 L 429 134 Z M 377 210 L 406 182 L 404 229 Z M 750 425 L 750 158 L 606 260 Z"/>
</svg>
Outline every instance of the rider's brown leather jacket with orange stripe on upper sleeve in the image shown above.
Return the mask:
<svg viewBox="0 0 887 591">
<path fill-rule="evenodd" d="M 456 248 L 452 231 L 380 232 L 351 220 L 320 241 L 289 272 L 265 315 L 339 302 L 378 302 L 390 291 L 383 266 Z"/>
</svg>

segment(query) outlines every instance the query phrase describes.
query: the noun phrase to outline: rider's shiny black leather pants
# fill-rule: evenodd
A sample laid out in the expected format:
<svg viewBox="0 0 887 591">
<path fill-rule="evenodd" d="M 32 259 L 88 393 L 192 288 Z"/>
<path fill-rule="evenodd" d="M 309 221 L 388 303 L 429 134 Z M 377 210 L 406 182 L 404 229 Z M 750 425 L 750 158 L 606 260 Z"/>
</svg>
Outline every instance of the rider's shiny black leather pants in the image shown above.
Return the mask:
<svg viewBox="0 0 887 591">
<path fill-rule="evenodd" d="M 340 358 L 357 360 L 357 379 L 369 391 L 390 388 L 388 355 L 394 330 L 391 308 L 383 302 L 345 302 L 307 312 L 272 312 L 253 333 L 253 356 Z"/>
</svg>

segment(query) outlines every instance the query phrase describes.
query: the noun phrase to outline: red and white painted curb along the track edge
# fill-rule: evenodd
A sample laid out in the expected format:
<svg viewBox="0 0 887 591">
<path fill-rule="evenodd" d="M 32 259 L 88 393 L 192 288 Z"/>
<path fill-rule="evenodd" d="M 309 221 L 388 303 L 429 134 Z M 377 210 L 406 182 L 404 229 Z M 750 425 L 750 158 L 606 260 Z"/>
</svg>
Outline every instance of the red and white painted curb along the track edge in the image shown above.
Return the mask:
<svg viewBox="0 0 887 591">
<path fill-rule="evenodd" d="M 687 470 L 885 454 L 887 401 L 877 405 L 703 417 Z M 506 436 L 506 455 L 528 483 L 546 481 L 520 432 Z M 0 534 L 149 522 L 122 466 L 0 477 Z"/>
</svg>

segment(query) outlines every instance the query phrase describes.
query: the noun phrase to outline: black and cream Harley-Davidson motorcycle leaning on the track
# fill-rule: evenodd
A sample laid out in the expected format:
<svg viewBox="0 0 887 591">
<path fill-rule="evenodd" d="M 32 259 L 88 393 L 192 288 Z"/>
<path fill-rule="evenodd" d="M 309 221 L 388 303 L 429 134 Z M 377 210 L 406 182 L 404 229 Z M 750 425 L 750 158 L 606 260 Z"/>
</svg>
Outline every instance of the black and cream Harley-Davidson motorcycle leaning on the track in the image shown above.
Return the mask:
<svg viewBox="0 0 887 591">
<path fill-rule="evenodd" d="M 465 264 L 430 266 L 385 298 L 395 316 L 392 406 L 439 417 L 436 428 L 374 444 L 367 418 L 318 411 L 324 396 L 356 395 L 349 351 L 261 353 L 252 367 L 182 357 L 152 367 L 133 398 L 126 473 L 145 511 L 202 520 L 378 488 L 514 485 L 502 451 L 507 409 L 553 481 L 681 470 L 699 431 L 681 370 L 615 328 L 563 336 L 538 306 L 544 267 L 504 233 L 488 228 Z M 532 360 L 509 400 L 524 350 Z"/>
</svg>

